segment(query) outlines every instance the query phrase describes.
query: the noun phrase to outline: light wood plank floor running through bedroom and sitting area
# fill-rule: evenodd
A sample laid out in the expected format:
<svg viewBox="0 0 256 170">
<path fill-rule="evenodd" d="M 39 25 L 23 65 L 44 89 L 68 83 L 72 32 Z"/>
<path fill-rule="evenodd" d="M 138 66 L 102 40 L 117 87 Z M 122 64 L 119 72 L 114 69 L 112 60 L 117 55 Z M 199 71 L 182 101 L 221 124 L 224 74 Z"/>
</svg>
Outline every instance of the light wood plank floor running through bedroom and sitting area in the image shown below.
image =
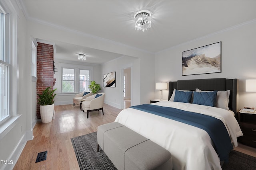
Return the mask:
<svg viewBox="0 0 256 170">
<path fill-rule="evenodd" d="M 127 104 L 129 105 L 129 101 Z M 113 122 L 121 111 L 104 104 L 102 111 L 86 113 L 71 105 L 54 106 L 55 119 L 50 123 L 37 123 L 33 129 L 34 139 L 28 141 L 14 170 L 79 170 L 71 138 L 97 131 L 99 125 Z M 39 152 L 48 151 L 47 160 L 36 162 Z M 235 150 L 256 157 L 256 148 L 239 144 Z"/>
</svg>

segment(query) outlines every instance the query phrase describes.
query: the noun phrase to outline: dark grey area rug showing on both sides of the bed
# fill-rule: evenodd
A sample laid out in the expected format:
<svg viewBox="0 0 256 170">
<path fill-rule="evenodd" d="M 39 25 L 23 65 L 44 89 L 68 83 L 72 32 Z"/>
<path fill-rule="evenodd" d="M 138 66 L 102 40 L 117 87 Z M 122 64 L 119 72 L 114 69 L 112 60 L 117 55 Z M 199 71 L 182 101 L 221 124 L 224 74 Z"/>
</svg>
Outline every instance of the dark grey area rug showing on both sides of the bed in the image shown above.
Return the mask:
<svg viewBox="0 0 256 170">
<path fill-rule="evenodd" d="M 71 142 L 81 170 L 116 170 L 101 148 L 97 152 L 97 132 L 74 137 Z M 223 170 L 256 170 L 256 158 L 231 150 Z"/>
</svg>

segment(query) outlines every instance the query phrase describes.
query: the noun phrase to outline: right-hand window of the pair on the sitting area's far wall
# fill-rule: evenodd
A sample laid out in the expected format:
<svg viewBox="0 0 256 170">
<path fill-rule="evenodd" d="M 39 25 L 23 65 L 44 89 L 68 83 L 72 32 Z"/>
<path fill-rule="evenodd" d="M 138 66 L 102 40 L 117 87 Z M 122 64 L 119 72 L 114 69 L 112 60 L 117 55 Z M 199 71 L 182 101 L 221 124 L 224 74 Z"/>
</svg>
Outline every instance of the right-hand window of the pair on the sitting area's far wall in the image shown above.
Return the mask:
<svg viewBox="0 0 256 170">
<path fill-rule="evenodd" d="M 89 91 L 90 70 L 79 70 L 79 92 Z"/>
</svg>

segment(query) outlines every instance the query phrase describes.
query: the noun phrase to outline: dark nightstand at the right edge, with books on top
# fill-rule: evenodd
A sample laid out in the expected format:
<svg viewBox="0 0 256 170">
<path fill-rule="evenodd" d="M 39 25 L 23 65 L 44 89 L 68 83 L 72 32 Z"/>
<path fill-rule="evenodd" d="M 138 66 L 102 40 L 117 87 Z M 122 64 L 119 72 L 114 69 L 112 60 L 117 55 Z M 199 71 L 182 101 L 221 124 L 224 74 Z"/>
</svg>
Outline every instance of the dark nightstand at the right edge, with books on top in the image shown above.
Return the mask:
<svg viewBox="0 0 256 170">
<path fill-rule="evenodd" d="M 256 113 L 238 112 L 238 123 L 244 134 L 238 141 L 244 145 L 256 148 Z"/>
</svg>

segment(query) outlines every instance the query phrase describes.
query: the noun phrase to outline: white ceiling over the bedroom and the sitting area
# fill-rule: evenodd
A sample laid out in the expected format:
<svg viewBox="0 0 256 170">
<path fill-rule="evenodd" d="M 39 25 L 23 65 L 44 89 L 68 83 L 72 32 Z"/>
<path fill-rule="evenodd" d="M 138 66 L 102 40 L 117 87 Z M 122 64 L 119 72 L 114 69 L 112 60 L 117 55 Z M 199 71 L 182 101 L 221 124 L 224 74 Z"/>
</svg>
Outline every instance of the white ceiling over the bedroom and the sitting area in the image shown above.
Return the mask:
<svg viewBox="0 0 256 170">
<path fill-rule="evenodd" d="M 156 53 L 256 18 L 255 0 L 22 0 L 28 20 L 50 23 Z M 136 31 L 134 13 L 152 12 L 151 28 Z M 88 53 L 89 63 L 120 54 L 56 43 L 56 55 L 73 60 Z M 99 58 L 103 57 L 103 60 Z M 94 58 L 95 57 L 95 58 Z M 90 60 L 89 60 L 90 59 Z M 91 60 L 92 59 L 92 60 Z"/>
</svg>

